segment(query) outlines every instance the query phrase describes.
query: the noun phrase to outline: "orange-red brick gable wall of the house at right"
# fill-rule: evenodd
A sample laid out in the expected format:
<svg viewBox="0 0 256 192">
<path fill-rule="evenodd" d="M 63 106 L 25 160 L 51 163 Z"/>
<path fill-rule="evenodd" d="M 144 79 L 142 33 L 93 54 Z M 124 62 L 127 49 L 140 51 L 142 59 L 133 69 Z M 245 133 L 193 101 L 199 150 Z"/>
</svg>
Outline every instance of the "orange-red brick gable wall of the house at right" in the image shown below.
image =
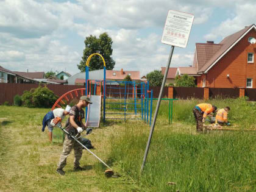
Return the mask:
<svg viewBox="0 0 256 192">
<path fill-rule="evenodd" d="M 206 74 L 208 87 L 246 87 L 246 79 L 253 78 L 253 88 L 256 88 L 256 44 L 250 44 L 248 42 L 249 37 L 256 38 L 254 29 L 233 46 L 233 48 L 208 71 Z M 254 53 L 254 63 L 247 63 L 248 52 Z M 229 74 L 229 78 L 227 78 L 227 74 Z M 203 79 L 203 77 L 201 79 Z"/>
</svg>

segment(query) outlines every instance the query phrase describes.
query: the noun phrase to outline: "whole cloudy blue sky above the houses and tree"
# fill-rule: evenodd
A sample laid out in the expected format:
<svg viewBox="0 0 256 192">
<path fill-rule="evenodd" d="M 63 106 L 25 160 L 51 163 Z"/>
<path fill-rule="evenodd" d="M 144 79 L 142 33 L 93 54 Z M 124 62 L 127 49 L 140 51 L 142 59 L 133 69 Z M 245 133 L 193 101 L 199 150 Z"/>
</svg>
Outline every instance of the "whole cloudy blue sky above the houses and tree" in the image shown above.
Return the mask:
<svg viewBox="0 0 256 192">
<path fill-rule="evenodd" d="M 107 32 L 119 70 L 141 76 L 166 66 L 161 43 L 169 9 L 192 13 L 187 48 L 175 48 L 171 66 L 193 62 L 195 43 L 222 38 L 254 24 L 255 0 L 0 0 L 0 65 L 13 71 L 79 72 L 89 35 Z"/>
</svg>

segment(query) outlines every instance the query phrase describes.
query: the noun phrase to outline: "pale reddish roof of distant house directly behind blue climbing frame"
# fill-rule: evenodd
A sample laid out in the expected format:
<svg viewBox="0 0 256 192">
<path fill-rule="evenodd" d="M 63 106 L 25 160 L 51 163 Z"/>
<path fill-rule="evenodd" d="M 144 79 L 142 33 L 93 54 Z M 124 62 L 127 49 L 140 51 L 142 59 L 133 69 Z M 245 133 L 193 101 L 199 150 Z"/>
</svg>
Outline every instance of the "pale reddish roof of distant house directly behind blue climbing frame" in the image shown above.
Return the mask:
<svg viewBox="0 0 256 192">
<path fill-rule="evenodd" d="M 121 80 L 121 79 L 124 79 L 128 74 L 130 74 L 130 78 L 132 80 L 140 80 L 140 71 L 123 71 L 123 74 L 121 74 L 121 70 L 120 71 L 106 70 L 106 79 Z"/>
</svg>

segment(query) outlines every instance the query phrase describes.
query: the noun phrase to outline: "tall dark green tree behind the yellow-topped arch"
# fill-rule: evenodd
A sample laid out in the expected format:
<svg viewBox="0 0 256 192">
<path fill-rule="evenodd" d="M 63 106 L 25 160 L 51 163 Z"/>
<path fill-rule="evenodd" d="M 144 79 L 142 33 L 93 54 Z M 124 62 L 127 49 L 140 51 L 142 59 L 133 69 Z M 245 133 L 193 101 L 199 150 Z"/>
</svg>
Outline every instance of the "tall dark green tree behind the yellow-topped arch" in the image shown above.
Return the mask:
<svg viewBox="0 0 256 192">
<path fill-rule="evenodd" d="M 113 52 L 112 49 L 112 38 L 108 36 L 108 34 L 105 32 L 101 35 L 99 35 L 99 38 L 96 38 L 96 36 L 90 35 L 89 37 L 85 38 L 85 49 L 83 52 L 82 60 L 80 61 L 80 64 L 77 65 L 77 67 L 80 69 L 81 72 L 85 71 L 85 63 L 88 59 L 88 57 L 91 54 L 99 53 L 102 55 L 102 57 L 105 60 L 106 69 L 112 70 L 115 66 L 115 61 L 112 59 L 111 55 Z M 103 69 L 103 61 L 101 57 L 99 56 L 93 56 L 90 60 L 89 69 L 90 71 L 97 70 L 97 69 Z"/>
</svg>

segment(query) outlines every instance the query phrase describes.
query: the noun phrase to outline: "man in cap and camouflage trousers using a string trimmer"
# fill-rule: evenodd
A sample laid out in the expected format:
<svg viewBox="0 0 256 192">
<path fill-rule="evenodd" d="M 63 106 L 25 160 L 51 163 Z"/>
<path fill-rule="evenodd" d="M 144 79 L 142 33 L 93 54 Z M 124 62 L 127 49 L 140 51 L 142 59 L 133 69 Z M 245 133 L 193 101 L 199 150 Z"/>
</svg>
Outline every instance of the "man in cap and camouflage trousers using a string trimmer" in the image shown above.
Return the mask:
<svg viewBox="0 0 256 192">
<path fill-rule="evenodd" d="M 87 107 L 88 104 L 92 104 L 90 102 L 90 99 L 87 96 L 81 96 L 77 105 L 72 107 L 69 112 L 69 119 L 68 123 L 66 124 L 66 131 L 71 133 L 73 136 L 76 136 L 77 138 L 80 137 L 80 133 L 82 133 L 86 128 L 85 124 L 82 122 L 82 119 L 85 118 L 85 113 L 82 108 Z M 82 138 L 80 137 L 78 140 L 81 142 Z M 73 140 L 73 138 L 65 135 L 65 140 L 63 142 L 63 151 L 60 155 L 60 160 L 56 170 L 61 175 L 65 174 L 63 168 L 66 166 L 66 158 L 71 153 L 72 149 L 74 149 L 74 171 L 80 171 L 83 169 L 79 166 L 79 160 L 82 157 L 83 152 L 82 146 L 75 140 Z"/>
</svg>

